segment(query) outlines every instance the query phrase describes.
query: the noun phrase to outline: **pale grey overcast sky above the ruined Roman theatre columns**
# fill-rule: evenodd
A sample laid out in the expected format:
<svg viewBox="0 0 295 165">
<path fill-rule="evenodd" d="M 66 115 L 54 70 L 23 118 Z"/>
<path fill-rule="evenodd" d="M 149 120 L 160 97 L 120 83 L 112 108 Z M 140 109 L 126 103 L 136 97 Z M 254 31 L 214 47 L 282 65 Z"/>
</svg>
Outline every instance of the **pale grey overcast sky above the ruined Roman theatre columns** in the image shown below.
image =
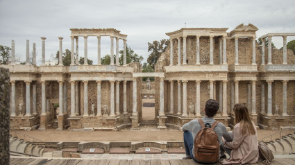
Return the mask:
<svg viewBox="0 0 295 165">
<path fill-rule="evenodd" d="M 11 46 L 22 60 L 26 56 L 26 40 L 30 51 L 36 43 L 37 63 L 42 56 L 42 40 L 47 37 L 46 60 L 59 49 L 58 37 L 64 37 L 62 49 L 71 49 L 69 28 L 115 28 L 128 35 L 127 44 L 149 56 L 147 43 L 169 38 L 165 33 L 180 28 L 229 28 L 254 24 L 257 38 L 267 33 L 295 33 L 295 1 L 57 1 L 0 0 L 0 44 Z M 295 37 L 287 37 L 287 42 Z M 273 37 L 277 48 L 283 37 Z M 97 38 L 88 37 L 88 58 L 97 62 Z M 79 37 L 79 56 L 84 53 L 83 37 Z M 123 41 L 119 41 L 123 49 Z M 110 54 L 110 37 L 101 37 L 101 55 Z M 51 59 L 52 60 L 52 59 Z"/>
</svg>

